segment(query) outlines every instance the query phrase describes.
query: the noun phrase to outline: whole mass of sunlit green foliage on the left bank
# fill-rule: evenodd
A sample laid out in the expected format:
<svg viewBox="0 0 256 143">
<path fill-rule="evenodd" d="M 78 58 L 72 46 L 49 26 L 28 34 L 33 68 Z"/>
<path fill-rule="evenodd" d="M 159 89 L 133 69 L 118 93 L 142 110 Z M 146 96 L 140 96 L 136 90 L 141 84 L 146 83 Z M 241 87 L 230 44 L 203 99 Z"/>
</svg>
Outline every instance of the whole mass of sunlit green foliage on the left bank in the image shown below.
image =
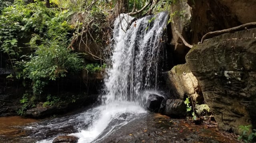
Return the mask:
<svg viewBox="0 0 256 143">
<path fill-rule="evenodd" d="M 1 51 L 8 55 L 10 61 L 19 60 L 21 50 L 18 42 L 24 37 L 30 38 L 28 44 L 35 50 L 30 56 L 22 56 L 26 59 L 16 62 L 21 71 L 16 77 L 31 79 L 34 95 L 42 92 L 48 80 L 83 69 L 83 59 L 67 49 L 72 36 L 70 32 L 75 28 L 66 21 L 68 15 L 68 10 L 46 8 L 41 1 L 25 4 L 22 0 L 15 0 L 13 5 L 2 11 Z"/>
</svg>

